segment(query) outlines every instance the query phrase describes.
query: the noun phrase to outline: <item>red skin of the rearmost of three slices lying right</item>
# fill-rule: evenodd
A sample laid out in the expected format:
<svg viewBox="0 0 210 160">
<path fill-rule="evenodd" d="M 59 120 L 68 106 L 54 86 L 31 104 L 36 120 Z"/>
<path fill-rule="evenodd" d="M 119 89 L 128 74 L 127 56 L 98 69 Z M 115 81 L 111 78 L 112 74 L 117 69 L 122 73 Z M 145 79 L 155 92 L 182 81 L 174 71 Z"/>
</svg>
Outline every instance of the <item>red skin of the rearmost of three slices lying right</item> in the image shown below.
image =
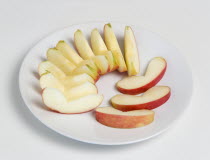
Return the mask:
<svg viewBox="0 0 210 160">
<path fill-rule="evenodd" d="M 166 68 L 167 68 L 167 64 L 166 64 L 165 68 L 162 70 L 162 72 L 154 80 L 152 80 L 151 82 L 149 82 L 148 84 L 146 84 L 144 86 L 141 86 L 141 87 L 135 88 L 135 89 L 125 89 L 125 88 L 121 88 L 121 87 L 117 86 L 117 89 L 121 93 L 130 94 L 130 95 L 144 93 L 148 89 L 154 87 L 163 78 L 163 76 L 166 72 Z"/>
</svg>

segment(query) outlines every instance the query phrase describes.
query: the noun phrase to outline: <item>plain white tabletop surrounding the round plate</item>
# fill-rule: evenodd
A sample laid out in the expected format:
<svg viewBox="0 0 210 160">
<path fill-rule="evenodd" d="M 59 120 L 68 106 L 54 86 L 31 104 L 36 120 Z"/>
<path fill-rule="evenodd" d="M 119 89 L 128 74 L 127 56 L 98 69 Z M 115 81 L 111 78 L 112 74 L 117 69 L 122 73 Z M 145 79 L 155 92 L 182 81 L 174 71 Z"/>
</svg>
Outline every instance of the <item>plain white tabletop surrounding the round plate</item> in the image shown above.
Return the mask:
<svg viewBox="0 0 210 160">
<path fill-rule="evenodd" d="M 0 159 L 210 159 L 210 2 L 129 2 L 1 1 Z M 167 132 L 132 145 L 89 145 L 51 131 L 24 106 L 17 78 L 28 50 L 49 32 L 95 20 L 137 23 L 168 39 L 187 57 L 195 78 L 192 105 Z"/>
</svg>

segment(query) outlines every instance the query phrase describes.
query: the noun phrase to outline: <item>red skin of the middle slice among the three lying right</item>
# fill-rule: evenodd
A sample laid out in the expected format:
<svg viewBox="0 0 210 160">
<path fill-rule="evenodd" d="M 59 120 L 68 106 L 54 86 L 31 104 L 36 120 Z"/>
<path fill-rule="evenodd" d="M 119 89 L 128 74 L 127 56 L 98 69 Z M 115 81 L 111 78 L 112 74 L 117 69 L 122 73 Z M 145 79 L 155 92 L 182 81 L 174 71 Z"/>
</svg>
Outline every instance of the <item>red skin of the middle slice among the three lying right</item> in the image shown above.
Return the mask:
<svg viewBox="0 0 210 160">
<path fill-rule="evenodd" d="M 133 111 L 133 110 L 140 110 L 140 109 L 148 109 L 148 110 L 152 110 L 155 109 L 159 106 L 161 106 L 162 104 L 164 104 L 165 102 L 168 101 L 168 99 L 171 96 L 171 92 L 169 92 L 167 95 L 165 95 L 164 97 L 157 99 L 155 101 L 151 101 L 148 103 L 144 103 L 144 104 L 135 104 L 135 105 L 119 105 L 119 104 L 115 104 L 112 103 L 113 107 L 121 110 L 121 111 Z"/>
</svg>

